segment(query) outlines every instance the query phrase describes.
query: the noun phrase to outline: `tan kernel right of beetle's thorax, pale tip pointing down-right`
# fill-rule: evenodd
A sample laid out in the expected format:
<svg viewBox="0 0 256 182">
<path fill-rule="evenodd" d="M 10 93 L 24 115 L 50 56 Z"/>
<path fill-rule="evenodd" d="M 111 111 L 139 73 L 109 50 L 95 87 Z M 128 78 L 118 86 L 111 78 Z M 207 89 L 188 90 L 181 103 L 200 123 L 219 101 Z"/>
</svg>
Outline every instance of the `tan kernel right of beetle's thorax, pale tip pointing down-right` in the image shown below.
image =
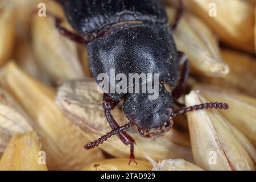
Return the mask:
<svg viewBox="0 0 256 182">
<path fill-rule="evenodd" d="M 176 10 L 166 8 L 170 24 L 175 18 Z M 203 73 L 212 77 L 224 77 L 229 67 L 221 58 L 217 38 L 213 32 L 194 15 L 184 12 L 174 31 L 177 49 L 188 56 L 193 73 Z"/>
</svg>

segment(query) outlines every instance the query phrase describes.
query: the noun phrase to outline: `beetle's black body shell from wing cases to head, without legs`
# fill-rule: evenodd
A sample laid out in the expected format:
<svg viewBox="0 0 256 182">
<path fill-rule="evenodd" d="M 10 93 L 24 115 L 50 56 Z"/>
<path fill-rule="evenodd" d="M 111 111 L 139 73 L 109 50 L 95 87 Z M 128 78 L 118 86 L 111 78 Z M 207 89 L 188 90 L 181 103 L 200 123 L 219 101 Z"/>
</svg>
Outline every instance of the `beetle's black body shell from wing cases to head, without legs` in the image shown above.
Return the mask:
<svg viewBox="0 0 256 182">
<path fill-rule="evenodd" d="M 139 130 L 168 125 L 171 113 L 166 113 L 166 107 L 173 108 L 174 103 L 162 84 L 176 86 L 180 64 L 162 3 L 159 0 L 65 0 L 61 3 L 69 23 L 80 35 L 96 37 L 87 48 L 90 69 L 98 83 L 101 80 L 97 76 L 107 73 L 110 77 L 112 68 L 115 74 L 124 73 L 127 77 L 129 73 L 159 74 L 160 97 L 148 104 L 146 94 L 108 96 L 114 101 L 125 97 L 123 111 L 135 118 Z M 97 37 L 101 32 L 105 35 Z"/>
</svg>

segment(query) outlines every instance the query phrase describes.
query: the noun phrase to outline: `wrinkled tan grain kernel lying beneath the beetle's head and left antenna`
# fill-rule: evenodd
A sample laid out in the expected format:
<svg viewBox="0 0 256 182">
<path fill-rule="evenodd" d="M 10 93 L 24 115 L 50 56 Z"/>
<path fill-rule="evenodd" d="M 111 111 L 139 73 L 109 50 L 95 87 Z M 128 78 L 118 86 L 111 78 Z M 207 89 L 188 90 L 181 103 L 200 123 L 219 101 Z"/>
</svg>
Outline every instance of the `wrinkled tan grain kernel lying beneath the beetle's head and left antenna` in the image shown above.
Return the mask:
<svg viewBox="0 0 256 182">
<path fill-rule="evenodd" d="M 102 94 L 97 92 L 97 84 L 93 78 L 64 82 L 57 92 L 56 105 L 92 141 L 112 130 L 102 108 Z M 119 125 L 128 122 L 120 105 L 112 111 L 112 114 Z M 171 129 L 159 138 L 143 138 L 135 127 L 127 132 L 137 143 L 135 146 L 137 159 L 144 159 L 143 153 L 145 153 L 155 160 L 168 158 L 192 160 L 189 138 L 175 129 Z M 115 157 L 128 158 L 130 154 L 129 147 L 116 136 L 109 138 L 99 147 Z"/>
</svg>

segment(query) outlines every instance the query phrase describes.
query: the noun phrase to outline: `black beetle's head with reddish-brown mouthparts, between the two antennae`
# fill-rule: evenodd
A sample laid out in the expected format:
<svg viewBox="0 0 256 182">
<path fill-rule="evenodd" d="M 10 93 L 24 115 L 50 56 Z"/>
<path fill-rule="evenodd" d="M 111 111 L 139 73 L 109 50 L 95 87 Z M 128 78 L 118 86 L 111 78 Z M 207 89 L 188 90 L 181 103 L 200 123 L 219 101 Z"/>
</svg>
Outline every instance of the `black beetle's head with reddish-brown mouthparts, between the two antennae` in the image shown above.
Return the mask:
<svg viewBox="0 0 256 182">
<path fill-rule="evenodd" d="M 143 137 L 152 137 L 168 131 L 173 121 L 171 118 L 174 103 L 170 93 L 162 84 L 159 85 L 159 97 L 148 100 L 148 94 L 126 94 L 123 111 L 127 118 L 135 121 Z"/>
</svg>

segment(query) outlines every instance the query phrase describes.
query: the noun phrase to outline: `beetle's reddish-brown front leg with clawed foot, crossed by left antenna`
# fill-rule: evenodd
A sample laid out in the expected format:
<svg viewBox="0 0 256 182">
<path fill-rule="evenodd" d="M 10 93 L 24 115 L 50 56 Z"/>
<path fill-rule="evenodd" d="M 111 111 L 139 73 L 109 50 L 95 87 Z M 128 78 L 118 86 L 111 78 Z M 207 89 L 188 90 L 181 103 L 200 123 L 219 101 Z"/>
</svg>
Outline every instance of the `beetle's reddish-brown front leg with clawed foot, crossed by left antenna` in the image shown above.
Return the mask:
<svg viewBox="0 0 256 182">
<path fill-rule="evenodd" d="M 105 115 L 106 118 L 109 122 L 109 125 L 112 127 L 112 129 L 117 129 L 118 127 L 120 127 L 118 125 L 118 123 L 115 121 L 115 119 L 112 117 L 112 114 L 110 113 L 110 110 L 113 110 L 114 107 L 118 104 L 119 101 L 113 101 L 107 94 L 104 94 L 103 96 L 103 107 L 105 109 Z M 131 136 L 129 134 L 127 134 L 125 131 L 121 131 L 117 133 L 117 137 L 119 139 L 121 139 L 121 141 L 128 145 L 130 144 L 130 160 L 129 160 L 129 164 L 134 161 L 136 164 L 137 162 L 135 161 L 135 157 L 134 157 L 134 144 L 135 141 L 133 138 L 131 138 Z"/>
</svg>

